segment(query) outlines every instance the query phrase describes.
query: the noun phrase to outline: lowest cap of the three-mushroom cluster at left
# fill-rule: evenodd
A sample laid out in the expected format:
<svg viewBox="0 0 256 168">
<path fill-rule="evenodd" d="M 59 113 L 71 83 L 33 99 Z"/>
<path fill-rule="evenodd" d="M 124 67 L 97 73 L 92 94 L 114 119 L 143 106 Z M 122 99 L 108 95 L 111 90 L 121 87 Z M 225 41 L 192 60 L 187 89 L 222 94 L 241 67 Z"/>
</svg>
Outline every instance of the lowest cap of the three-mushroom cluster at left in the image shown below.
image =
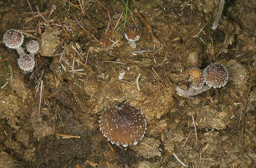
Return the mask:
<svg viewBox="0 0 256 168">
<path fill-rule="evenodd" d="M 21 70 L 32 71 L 35 66 L 35 60 L 31 56 L 25 54 L 23 56 L 20 56 L 18 60 L 18 65 Z"/>
</svg>

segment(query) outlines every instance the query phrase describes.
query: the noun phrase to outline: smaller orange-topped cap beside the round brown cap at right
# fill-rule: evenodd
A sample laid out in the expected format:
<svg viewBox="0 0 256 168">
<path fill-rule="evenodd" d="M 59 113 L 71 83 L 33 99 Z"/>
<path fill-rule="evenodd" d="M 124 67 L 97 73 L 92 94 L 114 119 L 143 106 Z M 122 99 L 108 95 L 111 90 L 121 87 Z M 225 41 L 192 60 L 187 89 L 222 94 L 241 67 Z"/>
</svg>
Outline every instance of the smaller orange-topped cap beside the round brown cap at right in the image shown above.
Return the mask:
<svg viewBox="0 0 256 168">
<path fill-rule="evenodd" d="M 189 68 L 188 70 L 186 70 L 186 73 L 188 73 L 190 75 L 189 79 L 192 82 L 191 86 L 193 89 L 198 90 L 203 87 L 205 82 L 204 82 L 204 78 L 202 75 L 202 70 L 200 70 L 199 68 L 193 67 L 193 68 Z"/>
</svg>

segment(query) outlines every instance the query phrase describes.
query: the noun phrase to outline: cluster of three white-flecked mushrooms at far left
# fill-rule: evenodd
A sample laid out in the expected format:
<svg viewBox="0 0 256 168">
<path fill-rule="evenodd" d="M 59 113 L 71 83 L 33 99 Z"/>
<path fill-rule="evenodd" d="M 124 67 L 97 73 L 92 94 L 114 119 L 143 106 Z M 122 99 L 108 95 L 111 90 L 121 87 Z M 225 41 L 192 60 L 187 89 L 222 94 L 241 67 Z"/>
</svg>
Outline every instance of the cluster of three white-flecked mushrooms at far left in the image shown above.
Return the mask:
<svg viewBox="0 0 256 168">
<path fill-rule="evenodd" d="M 18 59 L 18 65 L 21 70 L 31 72 L 35 66 L 34 55 L 39 49 L 39 44 L 35 40 L 30 40 L 26 49 L 30 53 L 27 55 L 22 49 L 21 45 L 24 41 L 24 36 L 19 30 L 10 29 L 4 34 L 3 42 L 8 48 L 16 49 L 20 58 Z"/>
</svg>

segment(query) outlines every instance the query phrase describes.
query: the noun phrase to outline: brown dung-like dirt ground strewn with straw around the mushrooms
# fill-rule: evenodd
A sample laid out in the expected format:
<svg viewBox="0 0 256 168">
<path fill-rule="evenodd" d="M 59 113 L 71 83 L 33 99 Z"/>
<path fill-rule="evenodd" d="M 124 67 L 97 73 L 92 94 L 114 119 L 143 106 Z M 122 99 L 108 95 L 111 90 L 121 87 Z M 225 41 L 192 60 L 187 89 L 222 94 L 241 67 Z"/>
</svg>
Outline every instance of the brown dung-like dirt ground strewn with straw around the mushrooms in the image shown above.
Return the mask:
<svg viewBox="0 0 256 168">
<path fill-rule="evenodd" d="M 0 1 L 0 168 L 256 167 L 255 0 L 226 0 L 215 30 L 220 0 L 129 0 L 128 10 L 126 0 L 79 0 L 84 14 L 78 0 L 29 1 L 44 19 L 33 19 L 27 0 Z M 132 49 L 124 32 L 135 23 Z M 40 44 L 33 72 L 23 74 L 2 42 L 11 28 L 25 36 L 23 48 Z M 176 93 L 189 88 L 185 70 L 215 62 L 228 69 L 226 86 Z M 104 109 L 120 104 L 147 121 L 135 146 L 100 132 Z"/>
</svg>

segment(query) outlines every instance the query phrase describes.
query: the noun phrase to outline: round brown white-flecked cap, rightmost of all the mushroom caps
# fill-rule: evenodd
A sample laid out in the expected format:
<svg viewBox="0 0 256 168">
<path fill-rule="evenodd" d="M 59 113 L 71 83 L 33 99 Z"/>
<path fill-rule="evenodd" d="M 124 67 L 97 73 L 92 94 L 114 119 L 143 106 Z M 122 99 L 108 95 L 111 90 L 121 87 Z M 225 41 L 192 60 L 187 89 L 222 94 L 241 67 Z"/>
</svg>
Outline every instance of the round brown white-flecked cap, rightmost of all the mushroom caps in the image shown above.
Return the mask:
<svg viewBox="0 0 256 168">
<path fill-rule="evenodd" d="M 206 84 L 214 88 L 225 86 L 228 82 L 228 70 L 221 63 L 212 63 L 208 65 L 203 76 Z"/>
</svg>

